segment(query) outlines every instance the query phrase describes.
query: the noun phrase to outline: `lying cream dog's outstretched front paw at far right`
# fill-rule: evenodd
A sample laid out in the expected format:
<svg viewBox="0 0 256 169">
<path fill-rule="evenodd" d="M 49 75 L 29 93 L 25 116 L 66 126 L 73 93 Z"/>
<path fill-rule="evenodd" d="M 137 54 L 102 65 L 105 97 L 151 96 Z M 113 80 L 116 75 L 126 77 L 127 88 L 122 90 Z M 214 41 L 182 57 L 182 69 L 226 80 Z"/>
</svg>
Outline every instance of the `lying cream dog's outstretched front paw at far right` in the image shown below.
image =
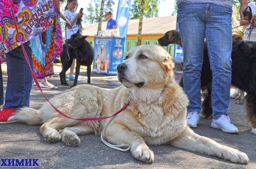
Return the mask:
<svg viewBox="0 0 256 169">
<path fill-rule="evenodd" d="M 230 160 L 234 163 L 246 164 L 250 161 L 248 156 L 245 153 L 242 153 L 242 151 L 226 146 L 218 154 L 218 157 Z"/>
</svg>

